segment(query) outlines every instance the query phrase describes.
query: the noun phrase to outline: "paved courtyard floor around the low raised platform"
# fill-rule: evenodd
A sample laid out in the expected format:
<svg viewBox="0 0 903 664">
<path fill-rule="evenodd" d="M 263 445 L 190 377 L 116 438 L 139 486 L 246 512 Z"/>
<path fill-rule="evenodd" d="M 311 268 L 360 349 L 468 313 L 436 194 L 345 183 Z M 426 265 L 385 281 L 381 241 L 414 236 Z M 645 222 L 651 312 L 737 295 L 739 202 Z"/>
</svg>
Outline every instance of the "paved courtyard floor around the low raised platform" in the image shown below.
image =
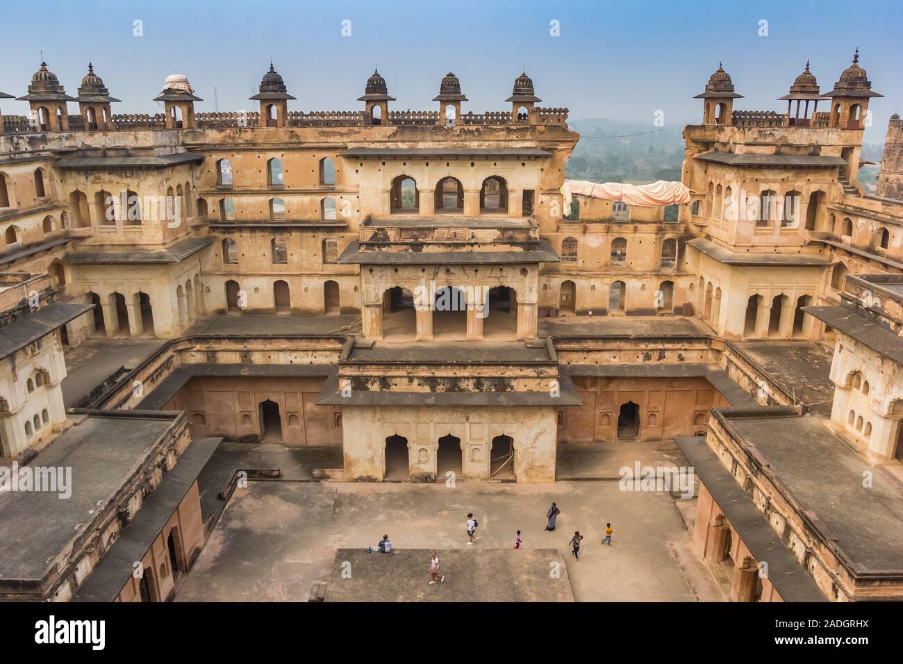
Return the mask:
<svg viewBox="0 0 903 664">
<path fill-rule="evenodd" d="M 545 532 L 552 500 L 562 514 L 558 528 Z M 465 533 L 469 511 L 479 520 L 473 547 Z M 614 528 L 612 547 L 600 544 L 606 521 Z M 315 581 L 330 578 L 339 548 L 375 546 L 387 533 L 396 549 L 466 554 L 512 548 L 517 529 L 524 548 L 562 552 L 578 602 L 719 597 L 668 493 L 619 491 L 614 481 L 453 488 L 257 481 L 235 492 L 177 600 L 306 601 Z M 574 530 L 585 536 L 580 561 L 568 549 Z M 423 572 L 426 585 L 425 563 Z M 454 584 L 453 575 L 445 583 Z"/>
</svg>

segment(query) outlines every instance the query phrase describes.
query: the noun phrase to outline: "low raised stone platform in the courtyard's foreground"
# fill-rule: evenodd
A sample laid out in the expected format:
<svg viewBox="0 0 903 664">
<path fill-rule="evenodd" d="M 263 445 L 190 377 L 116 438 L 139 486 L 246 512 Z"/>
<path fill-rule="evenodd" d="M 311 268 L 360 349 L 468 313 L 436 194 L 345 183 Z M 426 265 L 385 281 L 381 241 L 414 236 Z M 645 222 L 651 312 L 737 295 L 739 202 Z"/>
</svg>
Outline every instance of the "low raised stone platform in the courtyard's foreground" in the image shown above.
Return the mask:
<svg viewBox="0 0 903 664">
<path fill-rule="evenodd" d="M 374 543 L 376 544 L 376 543 Z M 326 602 L 573 602 L 554 548 L 439 550 L 444 583 L 430 584 L 427 548 L 390 554 L 340 548 Z"/>
</svg>

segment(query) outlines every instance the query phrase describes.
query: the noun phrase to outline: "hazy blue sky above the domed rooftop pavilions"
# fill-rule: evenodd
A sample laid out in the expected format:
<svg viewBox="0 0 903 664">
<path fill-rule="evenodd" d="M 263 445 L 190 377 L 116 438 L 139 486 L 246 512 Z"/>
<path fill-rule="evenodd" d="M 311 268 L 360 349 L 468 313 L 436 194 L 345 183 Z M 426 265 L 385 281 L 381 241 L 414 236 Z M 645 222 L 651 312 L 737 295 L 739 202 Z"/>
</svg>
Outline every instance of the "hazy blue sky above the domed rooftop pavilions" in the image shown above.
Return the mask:
<svg viewBox="0 0 903 664">
<path fill-rule="evenodd" d="M 157 111 L 163 79 L 184 73 L 204 98 L 197 110 L 256 108 L 247 98 L 272 57 L 298 110 L 361 106 L 378 66 L 398 99 L 394 108 L 433 108 L 448 71 L 461 79 L 465 112 L 507 108 L 526 67 L 543 106 L 571 117 L 667 124 L 702 116 L 706 80 L 724 62 L 736 108 L 782 110 L 776 99 L 812 60 L 822 90 L 833 87 L 858 46 L 873 89 L 874 125 L 883 139 L 891 113 L 903 114 L 903 3 L 873 0 L 789 2 L 545 2 L 535 0 L 44 0 L 41 10 L 5 3 L 0 21 L 0 90 L 25 93 L 40 51 L 70 95 L 88 60 L 113 96 L 115 113 Z M 341 34 L 349 20 L 351 35 Z M 144 36 L 133 35 L 135 20 Z M 560 36 L 550 35 L 558 21 Z M 768 36 L 759 36 L 759 22 Z M 5 113 L 24 102 L 4 100 Z M 74 108 L 73 111 L 74 112 Z"/>
</svg>

